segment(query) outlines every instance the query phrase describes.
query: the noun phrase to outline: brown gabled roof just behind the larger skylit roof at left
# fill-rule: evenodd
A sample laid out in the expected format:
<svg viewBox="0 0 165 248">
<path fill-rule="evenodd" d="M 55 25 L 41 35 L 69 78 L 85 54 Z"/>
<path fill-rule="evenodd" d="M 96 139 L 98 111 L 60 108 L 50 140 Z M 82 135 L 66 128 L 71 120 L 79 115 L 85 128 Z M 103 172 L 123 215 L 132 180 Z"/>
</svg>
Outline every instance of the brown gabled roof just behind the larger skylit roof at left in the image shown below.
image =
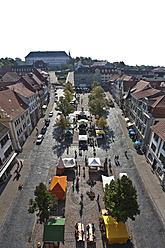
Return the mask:
<svg viewBox="0 0 165 248">
<path fill-rule="evenodd" d="M 10 90 L 13 90 L 15 93 L 18 93 L 19 95 L 25 98 L 29 98 L 35 95 L 34 92 L 32 92 L 31 90 L 28 90 L 22 83 L 7 86 L 7 88 L 9 88 Z"/>
</svg>

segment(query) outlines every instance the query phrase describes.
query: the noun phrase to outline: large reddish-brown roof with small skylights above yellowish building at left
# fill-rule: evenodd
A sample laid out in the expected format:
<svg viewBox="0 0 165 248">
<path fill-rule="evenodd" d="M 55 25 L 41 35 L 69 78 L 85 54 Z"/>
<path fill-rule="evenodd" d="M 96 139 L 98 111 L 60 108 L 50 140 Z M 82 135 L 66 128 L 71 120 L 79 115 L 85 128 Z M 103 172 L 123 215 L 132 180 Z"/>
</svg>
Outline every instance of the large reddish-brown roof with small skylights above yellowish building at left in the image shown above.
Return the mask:
<svg viewBox="0 0 165 248">
<path fill-rule="evenodd" d="M 0 91 L 0 107 L 11 117 L 18 118 L 29 107 L 12 90 Z"/>
</svg>

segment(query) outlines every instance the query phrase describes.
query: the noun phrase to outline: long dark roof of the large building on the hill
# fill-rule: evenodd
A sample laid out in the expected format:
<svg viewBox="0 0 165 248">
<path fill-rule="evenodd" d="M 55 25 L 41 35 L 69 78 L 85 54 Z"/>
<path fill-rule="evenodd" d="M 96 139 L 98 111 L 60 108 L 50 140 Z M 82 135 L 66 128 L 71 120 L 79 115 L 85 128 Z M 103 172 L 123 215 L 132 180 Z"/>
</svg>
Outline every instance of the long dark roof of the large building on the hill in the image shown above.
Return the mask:
<svg viewBox="0 0 165 248">
<path fill-rule="evenodd" d="M 55 52 L 30 52 L 25 58 L 29 57 L 61 57 L 61 56 L 66 56 L 69 57 L 65 51 L 55 51 Z"/>
</svg>

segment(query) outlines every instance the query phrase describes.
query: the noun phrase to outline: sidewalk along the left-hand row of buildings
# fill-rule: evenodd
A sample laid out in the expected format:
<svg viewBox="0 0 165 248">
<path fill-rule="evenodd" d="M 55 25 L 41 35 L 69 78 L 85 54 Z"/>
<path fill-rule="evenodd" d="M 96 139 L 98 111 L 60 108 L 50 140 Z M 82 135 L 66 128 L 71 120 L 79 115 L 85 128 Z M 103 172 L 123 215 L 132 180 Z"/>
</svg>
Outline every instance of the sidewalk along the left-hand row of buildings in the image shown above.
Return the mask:
<svg viewBox="0 0 165 248">
<path fill-rule="evenodd" d="M 48 104 L 48 107 L 47 107 L 47 110 L 45 113 L 45 117 L 41 118 L 39 120 L 39 122 L 37 123 L 33 132 L 27 138 L 27 140 L 23 146 L 22 153 L 20 153 L 17 156 L 17 160 L 18 161 L 21 160 L 23 162 L 23 167 L 20 171 L 21 176 L 18 180 L 14 179 L 14 177 L 16 175 L 15 174 L 15 166 L 14 166 L 12 171 L 11 171 L 11 177 L 8 180 L 8 182 L 6 183 L 6 186 L 5 186 L 2 194 L 0 195 L 0 206 L 1 206 L 0 227 L 3 225 L 5 218 L 8 214 L 8 211 L 9 211 L 10 207 L 12 206 L 14 198 L 18 192 L 18 186 L 19 186 L 19 184 L 23 183 L 24 177 L 25 177 L 25 175 L 26 175 L 26 173 L 30 167 L 29 156 L 30 156 L 30 152 L 32 151 L 32 149 L 34 148 L 34 146 L 36 144 L 36 139 L 37 139 L 36 128 L 38 128 L 38 131 L 39 131 L 38 133 L 40 133 L 41 128 L 42 128 L 43 123 L 44 123 L 44 119 L 48 118 L 49 112 L 52 111 L 53 104 L 54 104 L 54 93 L 53 93 L 53 90 L 51 89 L 50 102 Z"/>
</svg>

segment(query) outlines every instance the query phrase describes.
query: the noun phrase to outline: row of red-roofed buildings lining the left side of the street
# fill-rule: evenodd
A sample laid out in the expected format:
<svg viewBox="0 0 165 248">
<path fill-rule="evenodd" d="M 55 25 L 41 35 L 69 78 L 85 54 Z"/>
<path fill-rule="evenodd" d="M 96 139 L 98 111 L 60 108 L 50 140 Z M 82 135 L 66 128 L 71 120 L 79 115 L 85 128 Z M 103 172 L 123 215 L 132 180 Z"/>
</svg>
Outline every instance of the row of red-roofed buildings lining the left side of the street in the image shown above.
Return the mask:
<svg viewBox="0 0 165 248">
<path fill-rule="evenodd" d="M 49 74 L 6 72 L 0 78 L 0 182 L 4 182 L 17 152 L 44 114 L 50 95 Z"/>
</svg>

